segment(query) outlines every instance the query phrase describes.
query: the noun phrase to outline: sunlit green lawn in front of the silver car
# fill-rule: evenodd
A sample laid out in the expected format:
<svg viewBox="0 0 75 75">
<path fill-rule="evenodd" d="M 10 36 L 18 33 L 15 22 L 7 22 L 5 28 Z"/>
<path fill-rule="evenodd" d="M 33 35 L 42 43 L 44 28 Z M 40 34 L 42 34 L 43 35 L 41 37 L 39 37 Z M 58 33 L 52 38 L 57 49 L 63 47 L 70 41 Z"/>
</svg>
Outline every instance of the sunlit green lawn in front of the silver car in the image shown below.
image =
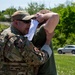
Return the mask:
<svg viewBox="0 0 75 75">
<path fill-rule="evenodd" d="M 71 54 L 55 55 L 58 75 L 75 75 L 75 56 Z"/>
</svg>

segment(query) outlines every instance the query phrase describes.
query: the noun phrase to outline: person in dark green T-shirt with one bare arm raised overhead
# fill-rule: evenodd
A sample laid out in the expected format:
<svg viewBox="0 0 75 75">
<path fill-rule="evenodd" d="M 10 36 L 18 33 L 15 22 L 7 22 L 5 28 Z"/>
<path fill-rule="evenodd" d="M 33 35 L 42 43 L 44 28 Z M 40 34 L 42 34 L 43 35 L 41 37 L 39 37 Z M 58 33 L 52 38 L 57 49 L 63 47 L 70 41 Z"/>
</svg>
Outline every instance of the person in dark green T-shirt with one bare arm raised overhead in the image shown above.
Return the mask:
<svg viewBox="0 0 75 75">
<path fill-rule="evenodd" d="M 36 47 L 44 48 L 50 55 L 48 61 L 40 66 L 37 75 L 57 75 L 51 39 L 59 22 L 59 15 L 50 10 L 43 9 L 36 13 L 36 20 L 39 22 L 39 28 L 32 42 Z M 49 47 L 51 47 L 52 54 L 50 54 L 51 50 Z"/>
</svg>

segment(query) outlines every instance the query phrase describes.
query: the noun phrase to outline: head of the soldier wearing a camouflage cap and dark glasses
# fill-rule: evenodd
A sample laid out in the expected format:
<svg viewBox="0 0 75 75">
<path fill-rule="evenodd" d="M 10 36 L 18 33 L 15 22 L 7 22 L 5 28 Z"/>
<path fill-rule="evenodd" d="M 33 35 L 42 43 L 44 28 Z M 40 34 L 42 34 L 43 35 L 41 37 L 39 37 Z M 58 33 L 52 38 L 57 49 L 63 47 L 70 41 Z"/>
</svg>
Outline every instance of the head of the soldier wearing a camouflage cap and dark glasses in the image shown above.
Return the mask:
<svg viewBox="0 0 75 75">
<path fill-rule="evenodd" d="M 29 15 L 26 11 L 16 11 L 11 16 L 12 25 L 22 34 L 27 34 L 34 15 Z"/>
</svg>

